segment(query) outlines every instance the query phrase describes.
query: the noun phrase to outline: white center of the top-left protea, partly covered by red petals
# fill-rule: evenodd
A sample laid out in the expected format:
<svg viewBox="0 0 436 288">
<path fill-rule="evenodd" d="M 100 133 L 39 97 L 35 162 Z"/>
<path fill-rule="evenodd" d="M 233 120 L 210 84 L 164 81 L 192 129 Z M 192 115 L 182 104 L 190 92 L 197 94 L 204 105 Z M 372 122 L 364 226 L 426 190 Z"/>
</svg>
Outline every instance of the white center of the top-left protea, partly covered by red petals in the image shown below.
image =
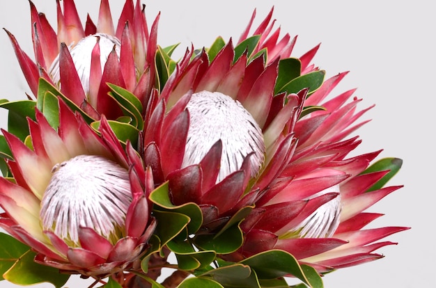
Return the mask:
<svg viewBox="0 0 436 288">
<path fill-rule="evenodd" d="M 95 47 L 95 43 L 99 40 L 100 46 L 100 65 L 102 71 L 104 70 L 104 65 L 106 64 L 107 58 L 111 53 L 112 49 L 116 50 L 116 54 L 120 55 L 121 43 L 120 40 L 114 36 L 97 33 L 94 35 L 88 35 L 85 38 L 77 42 L 77 45 L 70 49 L 70 54 L 72 62 L 75 64 L 77 74 L 81 81 L 81 86 L 83 86 L 85 94 L 89 93 L 89 77 L 91 74 L 91 55 Z M 49 74 L 53 79 L 53 82 L 59 84 L 61 81 L 61 75 L 59 72 L 59 55 L 54 59 L 52 66 L 49 68 Z"/>
</svg>

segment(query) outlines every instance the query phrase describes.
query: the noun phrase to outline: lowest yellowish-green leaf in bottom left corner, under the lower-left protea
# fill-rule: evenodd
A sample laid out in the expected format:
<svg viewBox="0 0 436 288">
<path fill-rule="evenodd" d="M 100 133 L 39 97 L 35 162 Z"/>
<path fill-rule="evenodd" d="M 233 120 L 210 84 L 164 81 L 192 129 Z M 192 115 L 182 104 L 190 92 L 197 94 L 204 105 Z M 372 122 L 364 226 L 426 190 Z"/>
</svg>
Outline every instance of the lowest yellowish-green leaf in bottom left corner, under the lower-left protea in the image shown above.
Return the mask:
<svg viewBox="0 0 436 288">
<path fill-rule="evenodd" d="M 37 264 L 33 261 L 35 256 L 35 252 L 28 250 L 3 274 L 3 277 L 18 285 L 33 285 L 42 282 L 50 282 L 54 287 L 65 285 L 70 275 L 60 273 L 53 267 Z"/>
</svg>

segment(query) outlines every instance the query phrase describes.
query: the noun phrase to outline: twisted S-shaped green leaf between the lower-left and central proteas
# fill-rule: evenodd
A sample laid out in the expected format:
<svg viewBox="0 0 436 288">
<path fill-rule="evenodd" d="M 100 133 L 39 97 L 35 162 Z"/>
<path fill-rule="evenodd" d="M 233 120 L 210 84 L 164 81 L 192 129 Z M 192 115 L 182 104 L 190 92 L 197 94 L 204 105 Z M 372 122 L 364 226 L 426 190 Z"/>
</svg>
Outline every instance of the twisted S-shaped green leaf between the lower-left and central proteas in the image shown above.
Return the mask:
<svg viewBox="0 0 436 288">
<path fill-rule="evenodd" d="M 180 214 L 187 215 L 191 221 L 187 225 L 188 234 L 194 234 L 201 227 L 203 223 L 203 214 L 200 207 L 194 202 L 185 203 L 180 206 L 173 205 L 169 199 L 168 182 L 165 182 L 161 186 L 157 187 L 152 193 L 150 193 L 150 201 L 164 208 L 164 211 L 173 211 Z"/>
</svg>

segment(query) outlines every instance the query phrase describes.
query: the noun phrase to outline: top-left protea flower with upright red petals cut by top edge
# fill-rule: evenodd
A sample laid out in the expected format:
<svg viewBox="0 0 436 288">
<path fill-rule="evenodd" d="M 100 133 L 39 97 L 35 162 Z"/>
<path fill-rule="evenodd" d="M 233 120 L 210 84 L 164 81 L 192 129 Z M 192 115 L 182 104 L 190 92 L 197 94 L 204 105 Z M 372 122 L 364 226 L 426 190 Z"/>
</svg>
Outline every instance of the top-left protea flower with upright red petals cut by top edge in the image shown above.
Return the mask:
<svg viewBox="0 0 436 288">
<path fill-rule="evenodd" d="M 31 1 L 31 23 L 35 61 L 9 35 L 15 54 L 33 95 L 38 95 L 40 77 L 60 88 L 94 119 L 104 114 L 116 119 L 122 114 L 109 95 L 106 83 L 133 93 L 142 104 L 155 86 L 156 17 L 150 31 L 139 1 L 126 0 L 118 25 L 114 24 L 109 2 L 102 0 L 98 23 L 88 16 L 83 28 L 73 0 L 57 4 L 57 33 L 45 15 Z"/>
</svg>

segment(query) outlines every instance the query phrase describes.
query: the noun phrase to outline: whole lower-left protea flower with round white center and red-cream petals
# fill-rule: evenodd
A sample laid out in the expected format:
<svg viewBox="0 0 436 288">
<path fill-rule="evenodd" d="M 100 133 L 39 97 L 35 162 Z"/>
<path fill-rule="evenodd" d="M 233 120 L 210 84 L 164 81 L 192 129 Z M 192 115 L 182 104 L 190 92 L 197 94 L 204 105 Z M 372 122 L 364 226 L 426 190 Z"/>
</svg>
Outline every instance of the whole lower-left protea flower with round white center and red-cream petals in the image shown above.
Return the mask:
<svg viewBox="0 0 436 288">
<path fill-rule="evenodd" d="M 97 133 L 62 101 L 57 131 L 38 110 L 28 122 L 26 144 L 3 131 L 13 179 L 0 178 L 1 227 L 61 271 L 102 278 L 132 266 L 155 229 L 153 178 L 132 145 L 124 150 L 107 120 Z"/>
</svg>

